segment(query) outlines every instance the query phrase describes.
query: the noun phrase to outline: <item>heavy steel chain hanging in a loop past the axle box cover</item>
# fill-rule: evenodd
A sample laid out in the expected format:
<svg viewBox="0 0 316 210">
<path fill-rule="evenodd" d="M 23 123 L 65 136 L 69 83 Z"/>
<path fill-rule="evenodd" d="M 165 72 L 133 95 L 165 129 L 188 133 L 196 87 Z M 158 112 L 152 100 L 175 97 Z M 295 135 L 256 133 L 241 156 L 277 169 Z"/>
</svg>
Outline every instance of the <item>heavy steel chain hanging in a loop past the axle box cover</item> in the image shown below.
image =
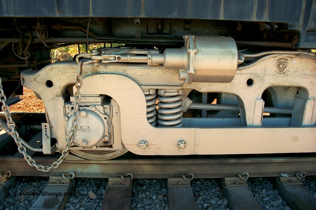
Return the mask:
<svg viewBox="0 0 316 210">
<path fill-rule="evenodd" d="M 7 119 L 7 125 L 11 129 L 11 136 L 14 138 L 14 141 L 16 145 L 18 146 L 18 150 L 20 153 L 23 154 L 24 159 L 27 161 L 28 165 L 36 167 L 37 170 L 48 172 L 52 168 L 57 168 L 59 164 L 63 162 L 65 157 L 69 154 L 69 147 L 71 146 L 71 143 L 73 141 L 73 134 L 76 131 L 76 124 L 77 124 L 77 117 L 78 117 L 78 110 L 79 110 L 79 103 L 81 99 L 81 94 L 79 92 L 80 88 L 82 87 L 82 61 L 79 62 L 78 72 L 77 72 L 77 80 L 76 80 L 76 89 L 75 92 L 75 101 L 74 101 L 74 109 L 71 111 L 70 115 L 73 116 L 71 119 L 71 126 L 69 127 L 69 134 L 66 136 L 66 148 L 61 152 L 61 156 L 58 158 L 57 161 L 53 162 L 51 166 L 43 166 L 40 164 L 36 164 L 36 161 L 32 159 L 30 155 L 27 155 L 26 148 L 22 144 L 21 140 L 23 140 L 17 131 L 15 131 L 15 122 L 12 120 L 9 106 L 5 103 L 7 101 L 7 97 L 4 95 L 3 86 L 2 86 L 2 79 L 0 77 L 0 99 L 2 102 L 2 111 L 4 112 L 4 115 Z M 10 125 L 12 124 L 12 125 Z"/>
</svg>

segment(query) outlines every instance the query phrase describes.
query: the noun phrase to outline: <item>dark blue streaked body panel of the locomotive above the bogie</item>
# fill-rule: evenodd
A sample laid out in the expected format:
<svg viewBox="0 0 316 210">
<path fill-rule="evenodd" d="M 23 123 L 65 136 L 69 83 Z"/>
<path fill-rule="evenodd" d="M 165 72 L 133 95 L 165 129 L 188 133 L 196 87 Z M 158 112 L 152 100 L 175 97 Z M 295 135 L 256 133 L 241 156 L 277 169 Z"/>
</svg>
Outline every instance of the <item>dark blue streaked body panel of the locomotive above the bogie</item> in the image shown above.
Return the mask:
<svg viewBox="0 0 316 210">
<path fill-rule="evenodd" d="M 2 0 L 2 17 L 147 17 L 284 22 L 316 48 L 316 0 Z"/>
</svg>

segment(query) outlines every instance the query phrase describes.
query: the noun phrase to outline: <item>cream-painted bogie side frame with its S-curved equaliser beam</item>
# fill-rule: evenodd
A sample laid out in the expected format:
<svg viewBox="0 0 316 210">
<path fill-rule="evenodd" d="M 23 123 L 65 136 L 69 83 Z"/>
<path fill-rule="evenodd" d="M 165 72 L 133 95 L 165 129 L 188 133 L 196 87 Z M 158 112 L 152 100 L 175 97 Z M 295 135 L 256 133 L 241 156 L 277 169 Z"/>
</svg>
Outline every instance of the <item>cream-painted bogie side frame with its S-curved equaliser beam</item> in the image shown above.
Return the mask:
<svg viewBox="0 0 316 210">
<path fill-rule="evenodd" d="M 278 59 L 287 59 L 286 68 L 280 71 Z M 66 121 L 64 116 L 67 88 L 76 82 L 78 65 L 75 61 L 53 63 L 40 71 L 26 70 L 21 73 L 23 86 L 38 93 L 46 106 L 51 122 L 52 135 L 58 139 L 58 149 L 65 147 Z M 316 84 L 315 60 L 304 55 L 267 55 L 241 66 L 230 83 L 193 83 L 179 81 L 178 69 L 143 64 L 107 63 L 99 67 L 83 66 L 83 96 L 106 95 L 119 106 L 114 117 L 116 126 L 114 143 L 139 155 L 216 155 L 316 152 Z M 253 84 L 247 85 L 252 79 Z M 46 81 L 53 85 L 48 87 Z M 269 87 L 296 87 L 291 119 L 281 117 L 280 124 L 266 123 L 262 126 L 263 92 Z M 197 90 L 205 93 L 233 93 L 240 107 L 241 127 L 154 127 L 146 118 L 144 90 L 179 90 L 183 99 Z M 286 92 L 286 88 L 284 89 Z M 113 119 L 114 119 L 113 118 Z M 209 118 L 213 120 L 212 118 Z M 194 118 L 186 119 L 194 120 Z M 224 118 L 215 119 L 219 122 Z M 215 123 L 216 124 L 216 123 Z M 220 125 L 220 123 L 218 123 Z M 214 125 L 214 123 L 212 124 Z M 97 128 L 98 125 L 95 125 Z M 120 136 L 119 136 L 120 134 Z M 185 148 L 179 149 L 179 140 Z M 148 145 L 140 148 L 139 143 Z M 79 147 L 74 148 L 80 150 Z M 100 150 L 85 148 L 84 150 Z M 122 152 L 124 149 L 117 149 Z"/>
</svg>

